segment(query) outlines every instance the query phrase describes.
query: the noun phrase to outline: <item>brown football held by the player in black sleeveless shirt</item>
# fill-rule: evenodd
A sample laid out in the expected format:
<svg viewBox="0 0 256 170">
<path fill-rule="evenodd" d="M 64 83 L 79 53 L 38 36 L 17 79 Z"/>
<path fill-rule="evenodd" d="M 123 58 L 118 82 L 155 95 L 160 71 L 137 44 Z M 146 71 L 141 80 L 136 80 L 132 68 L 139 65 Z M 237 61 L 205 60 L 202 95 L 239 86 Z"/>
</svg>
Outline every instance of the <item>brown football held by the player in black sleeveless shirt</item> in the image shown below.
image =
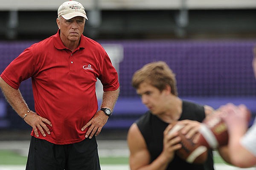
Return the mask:
<svg viewBox="0 0 256 170">
<path fill-rule="evenodd" d="M 169 134 L 178 132 L 178 135 L 181 138 L 182 147 L 179 150 L 176 150 L 176 155 L 181 159 L 185 160 L 191 164 L 203 164 L 207 160 L 207 147 L 192 142 L 193 139 L 187 139 L 184 134 L 181 133 L 183 125 L 177 124 L 172 127 L 169 131 Z"/>
</svg>

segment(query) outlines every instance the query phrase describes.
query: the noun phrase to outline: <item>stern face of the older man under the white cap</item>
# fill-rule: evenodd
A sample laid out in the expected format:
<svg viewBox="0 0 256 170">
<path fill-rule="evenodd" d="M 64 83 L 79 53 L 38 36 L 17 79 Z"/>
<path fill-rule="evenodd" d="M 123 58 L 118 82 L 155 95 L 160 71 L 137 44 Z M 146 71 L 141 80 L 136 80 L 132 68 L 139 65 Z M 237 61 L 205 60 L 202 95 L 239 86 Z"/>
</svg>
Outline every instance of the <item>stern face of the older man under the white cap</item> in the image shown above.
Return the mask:
<svg viewBox="0 0 256 170">
<path fill-rule="evenodd" d="M 78 41 L 80 40 L 81 35 L 84 32 L 84 17 L 73 17 L 70 20 L 57 19 L 57 24 L 61 30 L 61 37 L 69 41 Z"/>
</svg>

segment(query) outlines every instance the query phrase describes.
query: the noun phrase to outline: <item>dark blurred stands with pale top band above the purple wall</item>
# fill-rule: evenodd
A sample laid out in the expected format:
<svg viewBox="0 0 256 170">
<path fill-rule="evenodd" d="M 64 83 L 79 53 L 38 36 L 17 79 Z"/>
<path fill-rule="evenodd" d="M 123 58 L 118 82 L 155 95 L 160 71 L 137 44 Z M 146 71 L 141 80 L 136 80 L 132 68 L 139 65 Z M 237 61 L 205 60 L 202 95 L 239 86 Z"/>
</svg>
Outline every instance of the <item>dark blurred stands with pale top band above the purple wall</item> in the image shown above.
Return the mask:
<svg viewBox="0 0 256 170">
<path fill-rule="evenodd" d="M 2 0 L 1 0 L 2 1 Z M 8 0 L 0 6 L 3 40 L 41 40 L 55 34 L 64 0 Z M 84 34 L 98 40 L 251 39 L 255 0 L 81 0 Z"/>
</svg>

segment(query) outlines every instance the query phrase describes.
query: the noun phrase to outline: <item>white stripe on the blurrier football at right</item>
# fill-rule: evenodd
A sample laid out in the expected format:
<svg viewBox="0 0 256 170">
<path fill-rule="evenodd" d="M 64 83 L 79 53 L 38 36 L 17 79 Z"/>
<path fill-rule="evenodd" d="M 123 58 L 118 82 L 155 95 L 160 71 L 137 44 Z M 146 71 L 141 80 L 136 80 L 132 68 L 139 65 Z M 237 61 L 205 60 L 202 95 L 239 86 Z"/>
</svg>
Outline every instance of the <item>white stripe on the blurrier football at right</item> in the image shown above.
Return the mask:
<svg viewBox="0 0 256 170">
<path fill-rule="evenodd" d="M 210 130 L 206 125 L 202 124 L 199 132 L 204 136 L 204 139 L 206 140 L 206 142 L 208 142 L 209 146 L 212 147 L 212 149 L 216 149 L 218 147 L 217 139 L 212 133 L 212 130 Z"/>
</svg>

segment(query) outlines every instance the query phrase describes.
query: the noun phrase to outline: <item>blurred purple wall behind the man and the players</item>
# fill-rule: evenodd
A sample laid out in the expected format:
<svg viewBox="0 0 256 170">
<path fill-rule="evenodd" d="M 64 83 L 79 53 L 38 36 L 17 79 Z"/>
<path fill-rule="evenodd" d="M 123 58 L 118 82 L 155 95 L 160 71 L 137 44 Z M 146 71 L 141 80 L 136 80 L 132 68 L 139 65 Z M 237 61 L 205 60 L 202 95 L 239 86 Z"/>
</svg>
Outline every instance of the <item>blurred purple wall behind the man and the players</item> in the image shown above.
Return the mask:
<svg viewBox="0 0 256 170">
<path fill-rule="evenodd" d="M 99 41 L 102 44 L 122 44 L 124 59 L 119 64 L 120 97 L 114 114 L 106 127 L 128 127 L 146 111 L 131 87 L 136 70 L 152 61 L 163 60 L 177 78 L 179 96 L 217 108 L 233 101 L 244 103 L 256 112 L 256 80 L 251 61 L 255 40 L 150 40 L 150 41 Z M 0 73 L 25 48 L 34 42 L 0 42 Z M 20 86 L 29 107 L 33 109 L 30 79 Z M 0 96 L 0 99 L 3 96 Z M 8 106 L 5 117 L 10 128 L 27 128 Z M 1 126 L 0 126 L 1 127 Z"/>
</svg>

